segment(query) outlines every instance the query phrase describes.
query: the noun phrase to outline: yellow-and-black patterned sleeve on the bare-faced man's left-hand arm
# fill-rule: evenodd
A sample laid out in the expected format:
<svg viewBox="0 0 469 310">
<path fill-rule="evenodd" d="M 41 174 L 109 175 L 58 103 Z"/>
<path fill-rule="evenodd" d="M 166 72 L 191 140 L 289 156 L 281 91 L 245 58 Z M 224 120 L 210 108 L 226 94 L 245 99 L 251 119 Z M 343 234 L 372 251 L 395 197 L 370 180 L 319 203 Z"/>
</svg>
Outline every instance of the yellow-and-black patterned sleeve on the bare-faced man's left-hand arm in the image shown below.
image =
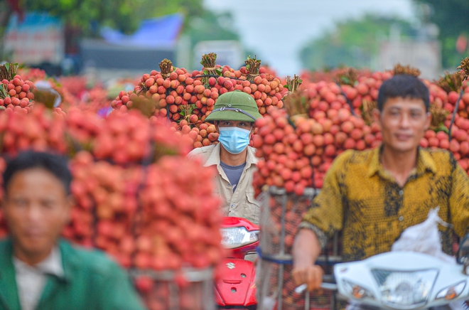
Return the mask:
<svg viewBox="0 0 469 310">
<path fill-rule="evenodd" d="M 351 151 L 345 151 L 333 161 L 325 175 L 323 188 L 303 218 L 303 221 L 315 225 L 329 236 L 342 229 L 344 208 L 342 188 L 347 161 L 351 154 Z"/>
</svg>

